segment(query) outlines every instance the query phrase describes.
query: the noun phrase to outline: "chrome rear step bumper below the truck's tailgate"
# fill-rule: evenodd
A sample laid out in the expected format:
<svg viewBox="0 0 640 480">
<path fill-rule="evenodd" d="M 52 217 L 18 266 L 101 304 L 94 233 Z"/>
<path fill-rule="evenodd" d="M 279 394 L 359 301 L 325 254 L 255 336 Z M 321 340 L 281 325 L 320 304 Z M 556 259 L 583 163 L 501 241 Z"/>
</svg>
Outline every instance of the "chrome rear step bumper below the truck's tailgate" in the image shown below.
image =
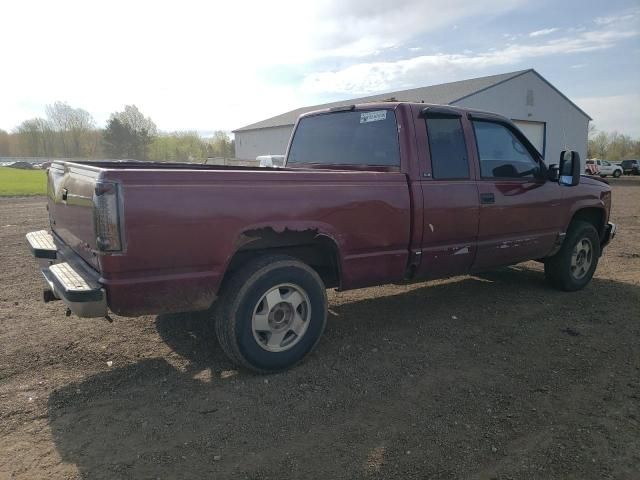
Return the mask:
<svg viewBox="0 0 640 480">
<path fill-rule="evenodd" d="M 42 275 L 53 296 L 79 317 L 104 317 L 107 314 L 107 295 L 99 282 L 99 274 L 87 267 L 73 252 L 58 250 L 46 230 L 27 234 L 33 256 L 48 266 Z"/>
</svg>

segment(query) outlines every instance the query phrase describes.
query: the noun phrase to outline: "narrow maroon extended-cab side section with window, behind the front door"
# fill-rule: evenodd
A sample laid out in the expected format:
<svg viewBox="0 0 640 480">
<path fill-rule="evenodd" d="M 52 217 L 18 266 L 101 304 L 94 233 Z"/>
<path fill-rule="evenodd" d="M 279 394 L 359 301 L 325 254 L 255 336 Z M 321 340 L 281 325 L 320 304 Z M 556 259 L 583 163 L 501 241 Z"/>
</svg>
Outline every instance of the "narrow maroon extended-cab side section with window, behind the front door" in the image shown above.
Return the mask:
<svg viewBox="0 0 640 480">
<path fill-rule="evenodd" d="M 465 141 L 470 125 L 446 107 L 416 107 L 414 114 L 424 216 L 417 274 L 465 273 L 476 254 L 479 223 L 472 152 Z"/>
</svg>

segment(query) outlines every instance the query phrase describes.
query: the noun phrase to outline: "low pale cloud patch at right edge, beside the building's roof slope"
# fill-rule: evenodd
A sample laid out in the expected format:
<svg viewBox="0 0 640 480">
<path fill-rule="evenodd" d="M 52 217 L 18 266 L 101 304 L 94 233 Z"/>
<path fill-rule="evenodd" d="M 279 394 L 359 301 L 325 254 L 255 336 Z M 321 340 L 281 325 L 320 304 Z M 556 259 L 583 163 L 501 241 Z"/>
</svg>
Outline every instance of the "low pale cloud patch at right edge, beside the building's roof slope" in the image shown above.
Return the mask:
<svg viewBox="0 0 640 480">
<path fill-rule="evenodd" d="M 640 94 L 576 98 L 598 130 L 640 138 Z"/>
</svg>

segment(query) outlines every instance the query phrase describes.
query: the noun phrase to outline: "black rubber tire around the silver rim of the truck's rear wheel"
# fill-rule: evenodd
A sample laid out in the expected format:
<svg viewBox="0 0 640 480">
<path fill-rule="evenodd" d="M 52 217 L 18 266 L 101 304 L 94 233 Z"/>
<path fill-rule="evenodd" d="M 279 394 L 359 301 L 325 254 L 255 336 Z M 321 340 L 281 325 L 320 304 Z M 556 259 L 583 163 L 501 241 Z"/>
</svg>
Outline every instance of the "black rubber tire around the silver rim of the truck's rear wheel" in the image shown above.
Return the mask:
<svg viewBox="0 0 640 480">
<path fill-rule="evenodd" d="M 287 332 L 286 338 L 294 335 L 296 342 L 291 347 L 268 351 L 266 341 L 261 345 L 260 332 L 254 331 L 253 317 L 263 305 L 260 302 L 266 293 L 281 291 L 275 287 L 285 284 L 295 286 L 307 296 L 308 302 L 303 303 L 305 309 L 309 308 L 305 313 L 308 324 L 299 339 L 293 332 Z M 283 288 L 286 292 L 286 287 Z M 276 372 L 297 364 L 317 345 L 327 323 L 327 293 L 322 279 L 308 265 L 287 255 L 267 255 L 245 265 L 225 281 L 214 321 L 220 346 L 231 361 L 255 372 Z"/>
</svg>

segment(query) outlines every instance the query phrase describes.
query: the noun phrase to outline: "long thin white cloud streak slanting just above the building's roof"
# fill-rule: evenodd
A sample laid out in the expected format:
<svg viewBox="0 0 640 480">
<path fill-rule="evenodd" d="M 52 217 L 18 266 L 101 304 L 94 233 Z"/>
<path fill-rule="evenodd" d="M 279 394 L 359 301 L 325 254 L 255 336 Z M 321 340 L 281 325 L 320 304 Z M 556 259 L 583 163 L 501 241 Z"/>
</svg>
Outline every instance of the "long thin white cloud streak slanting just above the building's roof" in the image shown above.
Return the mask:
<svg viewBox="0 0 640 480">
<path fill-rule="evenodd" d="M 437 53 L 396 61 L 363 62 L 349 67 L 312 73 L 303 81 L 308 92 L 333 92 L 361 95 L 390 89 L 411 88 L 445 82 L 461 75 L 477 74 L 494 67 L 508 67 L 539 57 L 593 52 L 614 47 L 636 37 L 638 29 L 621 29 L 618 24 L 577 32 L 573 36 L 538 43 L 515 43 L 475 53 Z"/>
</svg>

